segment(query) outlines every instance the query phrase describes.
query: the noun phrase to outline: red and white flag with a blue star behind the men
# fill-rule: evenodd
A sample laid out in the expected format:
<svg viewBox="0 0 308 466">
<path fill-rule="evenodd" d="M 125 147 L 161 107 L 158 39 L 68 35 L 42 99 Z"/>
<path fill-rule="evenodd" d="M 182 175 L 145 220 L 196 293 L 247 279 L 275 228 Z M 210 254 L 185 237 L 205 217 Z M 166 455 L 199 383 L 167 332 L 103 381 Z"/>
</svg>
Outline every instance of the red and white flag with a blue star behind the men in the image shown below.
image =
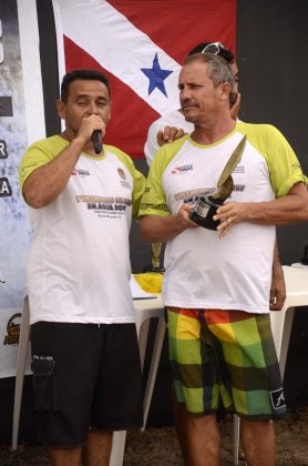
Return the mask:
<svg viewBox="0 0 308 466">
<path fill-rule="evenodd" d="M 150 124 L 178 108 L 177 79 L 197 43 L 235 53 L 236 0 L 53 0 L 60 79 L 92 68 L 110 78 L 105 142 L 143 158 Z M 85 26 L 86 24 L 86 26 Z"/>
</svg>

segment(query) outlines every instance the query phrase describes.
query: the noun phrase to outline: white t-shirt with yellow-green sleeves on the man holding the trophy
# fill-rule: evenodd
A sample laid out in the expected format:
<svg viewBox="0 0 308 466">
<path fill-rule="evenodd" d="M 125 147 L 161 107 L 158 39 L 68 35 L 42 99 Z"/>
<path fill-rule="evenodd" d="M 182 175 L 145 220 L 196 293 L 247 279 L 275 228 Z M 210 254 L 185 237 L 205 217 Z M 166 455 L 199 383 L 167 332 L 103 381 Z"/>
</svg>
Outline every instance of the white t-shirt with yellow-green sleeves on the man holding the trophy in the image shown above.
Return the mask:
<svg viewBox="0 0 308 466">
<path fill-rule="evenodd" d="M 232 200 L 263 202 L 306 183 L 299 162 L 283 134 L 271 125 L 237 122 L 211 145 L 185 135 L 163 145 L 153 159 L 140 216 L 176 213 L 182 203 L 216 190 L 233 151 L 247 135 L 233 172 Z M 219 239 L 216 231 L 187 229 L 167 242 L 165 305 L 266 313 L 269 310 L 275 226 L 243 222 Z"/>
</svg>

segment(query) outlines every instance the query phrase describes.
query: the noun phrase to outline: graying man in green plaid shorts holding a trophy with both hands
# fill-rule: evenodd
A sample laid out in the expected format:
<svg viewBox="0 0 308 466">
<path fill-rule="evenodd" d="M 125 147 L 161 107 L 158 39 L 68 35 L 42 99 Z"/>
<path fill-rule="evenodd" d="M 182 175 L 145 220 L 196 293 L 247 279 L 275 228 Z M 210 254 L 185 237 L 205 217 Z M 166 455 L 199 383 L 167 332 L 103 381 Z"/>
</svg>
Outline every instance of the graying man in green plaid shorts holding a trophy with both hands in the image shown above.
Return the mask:
<svg viewBox="0 0 308 466">
<path fill-rule="evenodd" d="M 269 322 L 275 225 L 308 219 L 306 178 L 271 125 L 236 122 L 234 78 L 214 54 L 186 59 L 179 100 L 193 133 L 155 156 L 140 216 L 167 242 L 163 301 L 189 466 L 219 464 L 216 411 L 243 424 L 250 465 L 275 465 L 270 419 L 286 412 Z"/>
</svg>

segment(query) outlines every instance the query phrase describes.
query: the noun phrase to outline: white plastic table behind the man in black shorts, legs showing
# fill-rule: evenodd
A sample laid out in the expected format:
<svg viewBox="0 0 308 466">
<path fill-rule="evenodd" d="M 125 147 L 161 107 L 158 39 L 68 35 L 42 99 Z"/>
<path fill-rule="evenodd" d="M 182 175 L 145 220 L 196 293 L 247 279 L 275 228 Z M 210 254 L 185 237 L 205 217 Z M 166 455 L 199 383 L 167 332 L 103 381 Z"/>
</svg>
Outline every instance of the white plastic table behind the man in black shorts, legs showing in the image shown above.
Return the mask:
<svg viewBox="0 0 308 466">
<path fill-rule="evenodd" d="M 162 353 L 164 335 L 165 335 L 165 321 L 164 308 L 161 296 L 151 300 L 134 300 L 134 307 L 136 313 L 136 330 L 138 335 L 138 346 L 141 354 L 142 367 L 145 358 L 148 325 L 152 317 L 158 317 L 158 324 L 155 335 L 154 348 L 150 365 L 150 372 L 145 388 L 143 402 L 143 429 L 146 425 L 148 409 L 151 405 L 152 394 L 156 379 L 160 357 Z M 27 364 L 27 355 L 29 351 L 29 335 L 30 335 L 30 310 L 28 296 L 23 300 L 23 308 L 20 324 L 18 361 L 17 361 L 17 375 L 16 375 L 16 389 L 14 389 L 14 405 L 13 405 L 13 428 L 12 428 L 12 449 L 17 449 L 18 433 L 20 422 L 20 408 L 24 381 L 24 372 Z M 113 435 L 112 452 L 110 466 L 121 466 L 123 464 L 124 449 L 125 449 L 126 430 L 115 432 Z"/>
</svg>

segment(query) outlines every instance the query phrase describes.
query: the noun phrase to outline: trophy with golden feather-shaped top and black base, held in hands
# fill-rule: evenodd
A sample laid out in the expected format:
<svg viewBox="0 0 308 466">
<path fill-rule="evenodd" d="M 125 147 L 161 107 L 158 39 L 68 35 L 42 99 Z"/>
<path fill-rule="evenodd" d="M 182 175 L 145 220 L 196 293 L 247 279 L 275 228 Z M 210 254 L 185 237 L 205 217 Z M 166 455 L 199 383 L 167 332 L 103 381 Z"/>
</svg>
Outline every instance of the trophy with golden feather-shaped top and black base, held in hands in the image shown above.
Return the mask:
<svg viewBox="0 0 308 466">
<path fill-rule="evenodd" d="M 246 135 L 242 139 L 239 144 L 235 148 L 228 162 L 226 163 L 219 180 L 217 182 L 217 190 L 211 195 L 201 196 L 194 209 L 189 212 L 189 219 L 207 230 L 216 230 L 219 225 L 219 220 L 213 220 L 217 209 L 224 204 L 225 200 L 229 197 L 234 182 L 232 172 L 238 164 L 246 144 Z"/>
</svg>

